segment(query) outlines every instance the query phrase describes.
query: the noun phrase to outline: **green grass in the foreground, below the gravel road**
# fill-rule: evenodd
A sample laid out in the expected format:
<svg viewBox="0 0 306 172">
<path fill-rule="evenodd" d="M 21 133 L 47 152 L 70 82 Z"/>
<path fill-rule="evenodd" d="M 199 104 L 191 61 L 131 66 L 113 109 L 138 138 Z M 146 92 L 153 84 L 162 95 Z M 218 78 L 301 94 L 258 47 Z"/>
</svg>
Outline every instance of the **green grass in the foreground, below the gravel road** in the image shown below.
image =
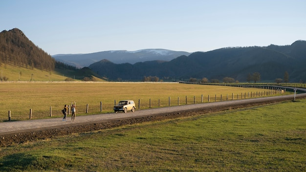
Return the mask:
<svg viewBox="0 0 306 172">
<path fill-rule="evenodd" d="M 306 170 L 306 99 L 0 148 L 0 171 Z"/>
</svg>

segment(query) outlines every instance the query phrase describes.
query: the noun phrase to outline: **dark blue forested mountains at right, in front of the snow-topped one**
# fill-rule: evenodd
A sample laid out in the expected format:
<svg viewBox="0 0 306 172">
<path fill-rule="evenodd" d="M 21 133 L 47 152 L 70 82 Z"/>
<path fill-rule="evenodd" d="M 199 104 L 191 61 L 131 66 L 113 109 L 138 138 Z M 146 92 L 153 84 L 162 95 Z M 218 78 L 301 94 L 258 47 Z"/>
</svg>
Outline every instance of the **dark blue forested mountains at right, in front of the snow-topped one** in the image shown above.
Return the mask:
<svg viewBox="0 0 306 172">
<path fill-rule="evenodd" d="M 136 64 L 114 64 L 102 60 L 89 65 L 93 71 L 116 80 L 142 80 L 144 76 L 160 79 L 208 78 L 222 81 L 231 77 L 246 81 L 247 74 L 259 72 L 262 81 L 273 82 L 289 73 L 290 82 L 306 80 L 306 41 L 291 45 L 269 45 L 265 47 L 220 48 L 208 52 L 182 55 L 169 62 L 150 61 Z"/>
</svg>

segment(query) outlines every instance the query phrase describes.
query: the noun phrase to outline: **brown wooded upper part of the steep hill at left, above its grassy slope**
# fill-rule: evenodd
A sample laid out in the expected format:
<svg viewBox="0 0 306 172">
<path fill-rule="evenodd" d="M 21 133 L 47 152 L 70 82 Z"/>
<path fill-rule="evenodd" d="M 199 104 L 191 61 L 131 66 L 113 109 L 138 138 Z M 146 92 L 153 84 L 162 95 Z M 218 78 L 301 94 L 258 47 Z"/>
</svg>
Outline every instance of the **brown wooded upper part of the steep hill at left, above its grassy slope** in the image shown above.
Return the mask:
<svg viewBox="0 0 306 172">
<path fill-rule="evenodd" d="M 54 70 L 55 60 L 32 43 L 18 28 L 0 32 L 0 64 Z"/>
</svg>

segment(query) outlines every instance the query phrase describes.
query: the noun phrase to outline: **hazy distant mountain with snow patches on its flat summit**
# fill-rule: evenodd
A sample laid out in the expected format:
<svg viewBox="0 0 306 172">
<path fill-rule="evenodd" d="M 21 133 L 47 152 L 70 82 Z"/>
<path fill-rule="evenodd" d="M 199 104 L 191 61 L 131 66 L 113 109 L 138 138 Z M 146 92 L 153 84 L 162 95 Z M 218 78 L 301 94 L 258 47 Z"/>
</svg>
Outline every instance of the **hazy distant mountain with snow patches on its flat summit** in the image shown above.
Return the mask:
<svg viewBox="0 0 306 172">
<path fill-rule="evenodd" d="M 191 53 L 189 52 L 172 51 L 167 49 L 142 49 L 137 51 L 101 51 L 89 54 L 57 54 L 52 57 L 59 62 L 74 65 L 76 67 L 84 67 L 103 59 L 107 59 L 115 64 L 135 64 L 137 62 L 154 60 L 171 61 L 178 56 L 188 56 L 190 54 Z"/>
</svg>

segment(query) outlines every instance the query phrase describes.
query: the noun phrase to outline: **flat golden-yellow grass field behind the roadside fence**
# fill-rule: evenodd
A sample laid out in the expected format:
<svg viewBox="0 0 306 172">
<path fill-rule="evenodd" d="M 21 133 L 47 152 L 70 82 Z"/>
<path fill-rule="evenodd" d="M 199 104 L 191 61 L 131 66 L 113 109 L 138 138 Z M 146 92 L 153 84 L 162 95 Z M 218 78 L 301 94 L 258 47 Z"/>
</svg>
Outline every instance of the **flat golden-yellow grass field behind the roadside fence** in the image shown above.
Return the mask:
<svg viewBox="0 0 306 172">
<path fill-rule="evenodd" d="M 0 121 L 8 120 L 8 111 L 11 111 L 11 120 L 29 119 L 32 109 L 32 119 L 62 116 L 64 105 L 76 102 L 77 115 L 113 112 L 115 100 L 134 100 L 136 110 L 140 100 L 140 108 L 177 106 L 179 105 L 236 100 L 266 95 L 266 89 L 241 88 L 232 86 L 205 86 L 178 83 L 124 83 L 124 82 L 0 82 Z M 251 96 L 252 94 L 252 96 Z M 289 94 L 289 93 L 285 93 Z M 234 95 L 234 97 L 232 96 Z M 270 94 L 269 96 L 271 96 Z M 87 112 L 88 104 L 88 113 Z"/>
</svg>

